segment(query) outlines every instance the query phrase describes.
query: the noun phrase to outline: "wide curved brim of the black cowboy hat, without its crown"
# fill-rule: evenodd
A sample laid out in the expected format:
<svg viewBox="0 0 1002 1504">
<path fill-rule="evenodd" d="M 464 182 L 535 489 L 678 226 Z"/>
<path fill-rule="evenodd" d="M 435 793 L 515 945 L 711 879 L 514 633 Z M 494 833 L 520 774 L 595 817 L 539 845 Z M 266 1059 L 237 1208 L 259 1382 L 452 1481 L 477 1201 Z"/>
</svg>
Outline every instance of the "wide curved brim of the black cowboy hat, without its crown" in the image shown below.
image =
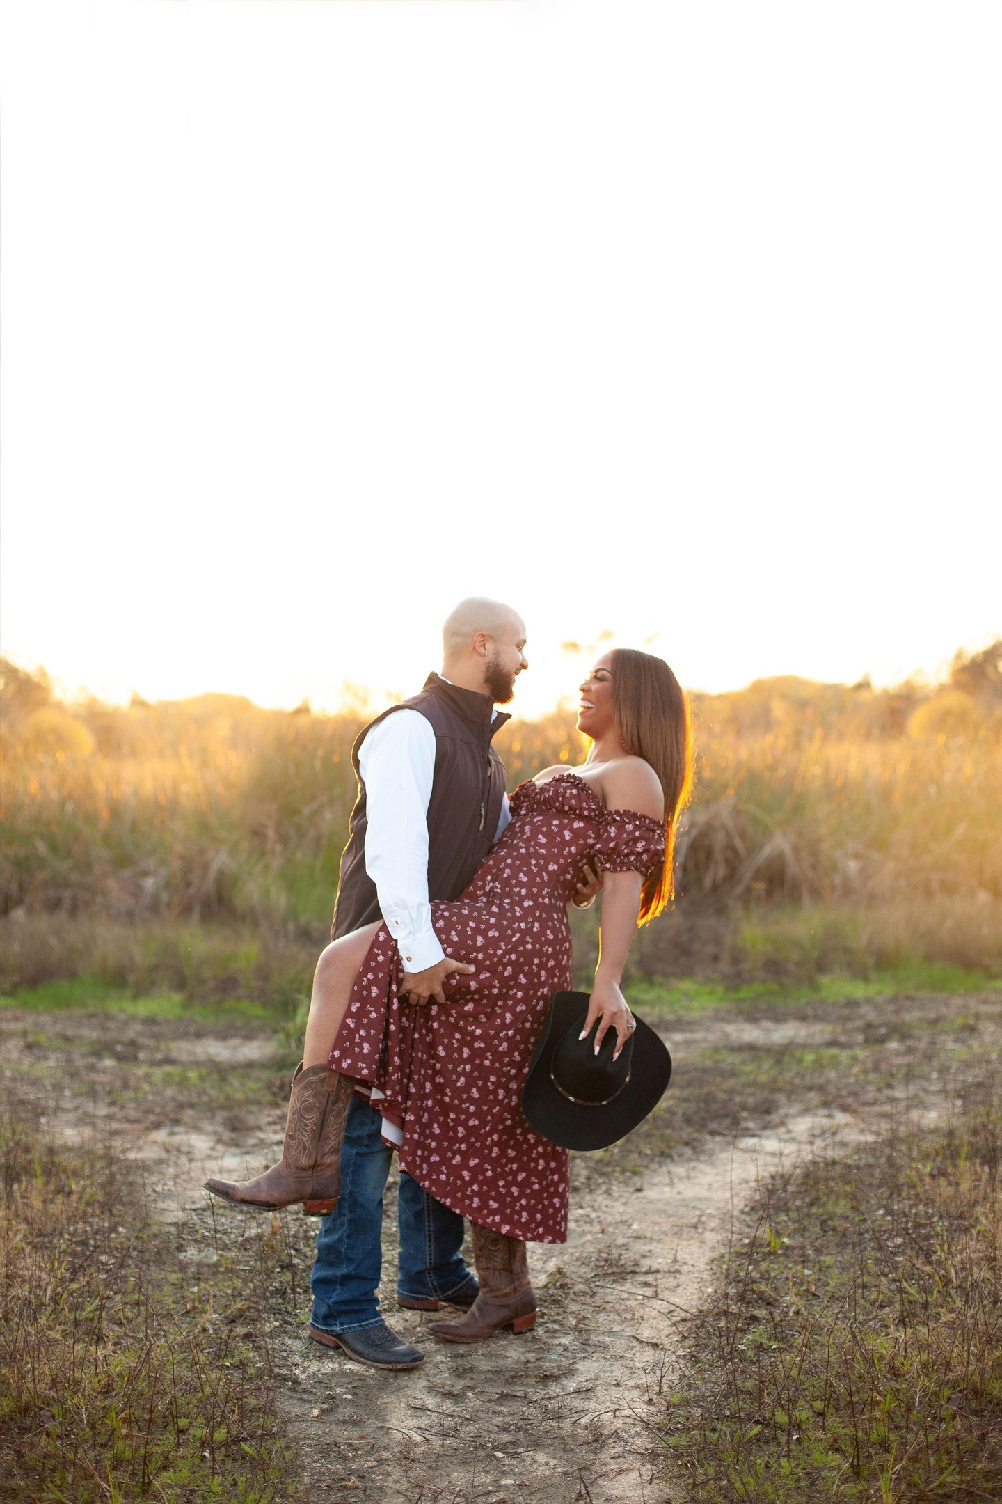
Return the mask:
<svg viewBox="0 0 1002 1504">
<path fill-rule="evenodd" d="M 568 1029 L 583 1024 L 589 1002 L 587 993 L 554 993 L 521 1090 L 526 1120 L 563 1149 L 607 1149 L 625 1139 L 656 1107 L 672 1080 L 672 1056 L 664 1041 L 634 1014 L 629 1081 L 619 1096 L 604 1107 L 568 1101 L 550 1078 L 550 1066 Z"/>
</svg>

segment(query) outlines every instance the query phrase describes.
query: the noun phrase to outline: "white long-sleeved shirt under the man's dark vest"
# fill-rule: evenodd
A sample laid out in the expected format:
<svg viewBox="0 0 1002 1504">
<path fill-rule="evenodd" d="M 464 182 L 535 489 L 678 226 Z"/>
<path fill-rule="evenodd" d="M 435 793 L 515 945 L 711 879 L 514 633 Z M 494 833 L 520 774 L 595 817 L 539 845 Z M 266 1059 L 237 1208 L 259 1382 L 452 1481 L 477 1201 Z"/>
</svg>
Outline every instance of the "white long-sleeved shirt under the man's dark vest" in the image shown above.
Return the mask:
<svg viewBox="0 0 1002 1504">
<path fill-rule="evenodd" d="M 497 714 L 497 711 L 494 711 Z M 437 966 L 445 952 L 431 928 L 428 902 L 428 802 L 436 734 L 419 710 L 395 710 L 359 747 L 365 784 L 365 871 L 406 972 Z M 511 820 L 508 794 L 494 841 Z"/>
</svg>

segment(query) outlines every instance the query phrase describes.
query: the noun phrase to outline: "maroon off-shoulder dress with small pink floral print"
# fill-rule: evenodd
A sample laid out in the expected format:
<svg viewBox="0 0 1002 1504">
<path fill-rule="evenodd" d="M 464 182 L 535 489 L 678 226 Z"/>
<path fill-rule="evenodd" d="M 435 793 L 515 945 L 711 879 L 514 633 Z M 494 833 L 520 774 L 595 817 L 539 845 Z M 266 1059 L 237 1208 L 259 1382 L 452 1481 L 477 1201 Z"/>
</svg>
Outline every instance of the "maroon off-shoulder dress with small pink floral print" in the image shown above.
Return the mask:
<svg viewBox="0 0 1002 1504">
<path fill-rule="evenodd" d="M 553 993 L 571 985 L 566 905 L 581 863 L 647 875 L 664 824 L 607 809 L 575 773 L 521 784 L 511 824 L 455 902 L 433 902 L 448 957 L 445 1005 L 398 997 L 403 966 L 380 926 L 330 1051 L 330 1068 L 382 1093 L 400 1126 L 400 1163 L 482 1227 L 535 1242 L 566 1239 L 568 1155 L 521 1113 L 521 1087 Z"/>
</svg>

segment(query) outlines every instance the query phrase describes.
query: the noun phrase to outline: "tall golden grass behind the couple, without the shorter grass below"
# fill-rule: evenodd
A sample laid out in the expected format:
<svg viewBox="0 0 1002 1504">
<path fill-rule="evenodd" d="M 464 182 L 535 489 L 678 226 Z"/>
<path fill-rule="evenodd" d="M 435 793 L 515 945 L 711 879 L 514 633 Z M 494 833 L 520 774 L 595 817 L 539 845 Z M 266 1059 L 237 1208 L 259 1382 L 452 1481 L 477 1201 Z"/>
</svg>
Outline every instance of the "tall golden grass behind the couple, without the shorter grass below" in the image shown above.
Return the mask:
<svg viewBox="0 0 1002 1504">
<path fill-rule="evenodd" d="M 979 659 L 984 683 L 964 680 Z M 954 683 L 937 689 L 769 680 L 696 696 L 682 898 L 1002 898 L 999 665 L 1002 644 L 955 660 Z M 0 911 L 314 925 L 329 914 L 359 714 L 228 695 L 66 705 L 44 674 L 12 665 L 2 687 Z M 565 710 L 512 720 L 499 750 L 514 787 L 577 761 L 583 741 Z"/>
</svg>

